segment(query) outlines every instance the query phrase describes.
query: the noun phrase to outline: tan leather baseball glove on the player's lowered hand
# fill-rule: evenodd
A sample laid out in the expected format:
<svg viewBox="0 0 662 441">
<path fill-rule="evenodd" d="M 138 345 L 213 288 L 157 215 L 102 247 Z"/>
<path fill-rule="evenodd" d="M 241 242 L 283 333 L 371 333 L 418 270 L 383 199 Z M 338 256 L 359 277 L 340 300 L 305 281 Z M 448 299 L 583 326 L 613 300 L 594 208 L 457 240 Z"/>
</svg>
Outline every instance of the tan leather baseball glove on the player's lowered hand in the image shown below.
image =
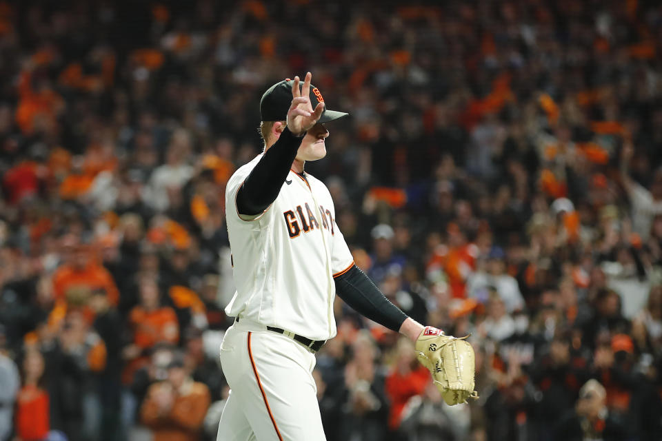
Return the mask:
<svg viewBox="0 0 662 441">
<path fill-rule="evenodd" d="M 474 349 L 465 338 L 445 336 L 428 326 L 416 340 L 419 361 L 430 369 L 434 384 L 450 406 L 478 398 L 474 391 Z"/>
</svg>

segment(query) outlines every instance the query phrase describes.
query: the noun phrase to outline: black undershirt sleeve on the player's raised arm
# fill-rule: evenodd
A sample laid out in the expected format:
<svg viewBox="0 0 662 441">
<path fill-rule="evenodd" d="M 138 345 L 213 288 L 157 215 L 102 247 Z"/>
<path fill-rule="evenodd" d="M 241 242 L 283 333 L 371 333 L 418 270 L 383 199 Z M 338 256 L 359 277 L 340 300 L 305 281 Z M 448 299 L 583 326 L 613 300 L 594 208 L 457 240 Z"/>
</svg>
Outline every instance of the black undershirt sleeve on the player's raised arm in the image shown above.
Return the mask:
<svg viewBox="0 0 662 441">
<path fill-rule="evenodd" d="M 276 200 L 297 157 L 301 139 L 285 127 L 278 141 L 263 154 L 237 191 L 237 211 L 240 214 L 260 214 Z"/>
</svg>

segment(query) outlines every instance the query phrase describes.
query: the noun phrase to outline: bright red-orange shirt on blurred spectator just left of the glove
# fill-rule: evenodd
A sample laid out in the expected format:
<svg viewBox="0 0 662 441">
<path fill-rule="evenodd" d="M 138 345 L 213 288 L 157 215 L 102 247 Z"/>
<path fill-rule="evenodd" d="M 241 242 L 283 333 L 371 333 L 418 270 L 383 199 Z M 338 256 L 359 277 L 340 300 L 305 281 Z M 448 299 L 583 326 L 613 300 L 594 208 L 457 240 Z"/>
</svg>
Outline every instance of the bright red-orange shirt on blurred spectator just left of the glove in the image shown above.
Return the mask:
<svg viewBox="0 0 662 441">
<path fill-rule="evenodd" d="M 388 413 L 388 427 L 392 430 L 400 426 L 402 411 L 405 404 L 413 396 L 421 395 L 430 382 L 430 371 L 419 366 L 410 373 L 403 375 L 394 369 L 384 382 L 386 395 L 391 401 Z"/>
</svg>

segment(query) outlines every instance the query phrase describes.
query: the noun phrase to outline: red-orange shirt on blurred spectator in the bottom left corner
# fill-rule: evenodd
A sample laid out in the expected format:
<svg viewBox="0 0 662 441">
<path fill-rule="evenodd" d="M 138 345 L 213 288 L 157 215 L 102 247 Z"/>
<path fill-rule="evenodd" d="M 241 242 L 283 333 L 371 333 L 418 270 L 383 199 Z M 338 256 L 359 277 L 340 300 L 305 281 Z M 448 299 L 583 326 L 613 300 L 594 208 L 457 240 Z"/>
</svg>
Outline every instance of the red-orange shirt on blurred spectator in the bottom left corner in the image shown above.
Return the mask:
<svg viewBox="0 0 662 441">
<path fill-rule="evenodd" d="M 50 431 L 48 393 L 34 385 L 19 392 L 16 405 L 16 433 L 21 441 L 41 441 Z"/>
</svg>

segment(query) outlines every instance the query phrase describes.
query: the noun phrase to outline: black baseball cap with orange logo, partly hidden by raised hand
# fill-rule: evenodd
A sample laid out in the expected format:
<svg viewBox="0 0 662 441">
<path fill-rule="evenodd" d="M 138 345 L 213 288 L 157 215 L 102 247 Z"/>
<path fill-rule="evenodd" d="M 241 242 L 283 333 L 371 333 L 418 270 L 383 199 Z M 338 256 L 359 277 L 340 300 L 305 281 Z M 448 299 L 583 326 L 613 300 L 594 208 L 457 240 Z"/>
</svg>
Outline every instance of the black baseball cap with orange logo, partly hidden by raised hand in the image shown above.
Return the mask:
<svg viewBox="0 0 662 441">
<path fill-rule="evenodd" d="M 272 85 L 264 92 L 260 100 L 260 116 L 262 121 L 285 121 L 288 119 L 288 110 L 290 110 L 290 105 L 292 105 L 292 83 L 294 83 L 294 80 L 288 78 Z M 303 81 L 299 83 L 299 88 L 303 88 Z M 324 101 L 321 92 L 311 84 L 310 105 L 314 109 L 321 101 Z M 347 115 L 348 113 L 345 112 L 328 110 L 325 106 L 319 122 L 328 123 L 329 121 Z"/>
</svg>

